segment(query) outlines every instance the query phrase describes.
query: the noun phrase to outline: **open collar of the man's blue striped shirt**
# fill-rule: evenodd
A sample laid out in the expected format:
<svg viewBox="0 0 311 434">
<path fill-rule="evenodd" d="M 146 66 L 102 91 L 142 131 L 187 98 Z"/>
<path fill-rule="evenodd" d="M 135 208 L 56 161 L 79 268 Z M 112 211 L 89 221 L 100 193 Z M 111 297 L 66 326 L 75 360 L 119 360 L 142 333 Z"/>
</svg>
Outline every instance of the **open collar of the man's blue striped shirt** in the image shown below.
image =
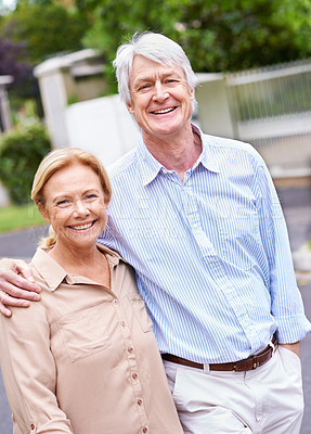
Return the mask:
<svg viewBox="0 0 311 434">
<path fill-rule="evenodd" d="M 203 146 L 202 153 L 192 167 L 192 170 L 197 167 L 199 163 L 202 163 L 207 170 L 219 173 L 219 164 L 212 153 L 212 149 L 208 143 L 208 137 L 204 136 L 202 130 L 194 124 L 192 124 L 192 130 L 200 137 Z M 139 138 L 138 157 L 143 186 L 147 186 L 150 182 L 152 182 L 160 170 L 167 171 L 167 169 L 147 150 L 143 142 L 142 136 Z"/>
</svg>

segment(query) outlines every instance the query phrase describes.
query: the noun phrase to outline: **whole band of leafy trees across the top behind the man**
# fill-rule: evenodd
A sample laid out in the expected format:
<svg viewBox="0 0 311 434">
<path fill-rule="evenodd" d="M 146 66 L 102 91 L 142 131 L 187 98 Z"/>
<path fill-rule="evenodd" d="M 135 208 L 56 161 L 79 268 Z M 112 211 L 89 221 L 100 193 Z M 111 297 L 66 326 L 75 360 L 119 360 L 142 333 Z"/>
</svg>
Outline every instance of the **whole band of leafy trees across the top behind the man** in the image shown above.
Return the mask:
<svg viewBox="0 0 311 434">
<path fill-rule="evenodd" d="M 98 48 L 115 92 L 111 63 L 137 31 L 179 42 L 196 72 L 239 71 L 310 56 L 310 0 L 17 0 L 14 11 L 0 15 L 0 38 L 25 43 L 27 58 L 14 56 L 31 66 L 60 52 Z"/>
</svg>

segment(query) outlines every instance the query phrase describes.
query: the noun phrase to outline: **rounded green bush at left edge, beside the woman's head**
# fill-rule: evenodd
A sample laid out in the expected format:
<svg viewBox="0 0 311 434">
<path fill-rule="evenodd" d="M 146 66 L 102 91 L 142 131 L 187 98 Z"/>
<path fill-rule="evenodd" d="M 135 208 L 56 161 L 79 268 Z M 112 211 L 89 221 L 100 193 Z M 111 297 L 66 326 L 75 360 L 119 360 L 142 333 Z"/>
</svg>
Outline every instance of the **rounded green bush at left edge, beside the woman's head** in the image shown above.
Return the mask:
<svg viewBox="0 0 311 434">
<path fill-rule="evenodd" d="M 51 150 L 44 126 L 35 120 L 21 124 L 0 139 L 0 179 L 15 204 L 30 201 L 35 173 Z"/>
</svg>

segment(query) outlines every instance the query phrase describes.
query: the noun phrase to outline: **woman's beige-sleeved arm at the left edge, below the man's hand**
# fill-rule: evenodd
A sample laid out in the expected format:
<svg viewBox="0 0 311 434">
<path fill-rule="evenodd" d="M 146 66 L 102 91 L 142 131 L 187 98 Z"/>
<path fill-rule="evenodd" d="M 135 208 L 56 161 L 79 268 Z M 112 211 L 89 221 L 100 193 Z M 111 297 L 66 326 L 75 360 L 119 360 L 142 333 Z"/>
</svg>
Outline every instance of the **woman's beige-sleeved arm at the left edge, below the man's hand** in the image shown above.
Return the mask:
<svg viewBox="0 0 311 434">
<path fill-rule="evenodd" d="M 0 316 L 0 363 L 21 432 L 73 434 L 55 396 L 56 369 L 43 304 L 15 309 L 12 318 Z"/>
</svg>

